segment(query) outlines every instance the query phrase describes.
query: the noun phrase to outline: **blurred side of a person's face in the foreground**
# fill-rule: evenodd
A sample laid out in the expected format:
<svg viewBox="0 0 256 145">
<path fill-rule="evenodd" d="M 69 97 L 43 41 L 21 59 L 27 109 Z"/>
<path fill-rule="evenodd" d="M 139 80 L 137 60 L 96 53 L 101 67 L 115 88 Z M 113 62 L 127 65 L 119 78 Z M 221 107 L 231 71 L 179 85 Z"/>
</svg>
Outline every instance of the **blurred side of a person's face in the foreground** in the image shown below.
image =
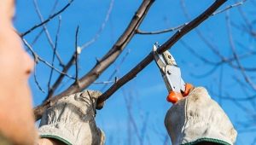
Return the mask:
<svg viewBox="0 0 256 145">
<path fill-rule="evenodd" d="M 14 0 L 0 0 L 0 134 L 29 145 L 36 136 L 27 83 L 32 60 L 15 33 L 14 12 Z"/>
</svg>

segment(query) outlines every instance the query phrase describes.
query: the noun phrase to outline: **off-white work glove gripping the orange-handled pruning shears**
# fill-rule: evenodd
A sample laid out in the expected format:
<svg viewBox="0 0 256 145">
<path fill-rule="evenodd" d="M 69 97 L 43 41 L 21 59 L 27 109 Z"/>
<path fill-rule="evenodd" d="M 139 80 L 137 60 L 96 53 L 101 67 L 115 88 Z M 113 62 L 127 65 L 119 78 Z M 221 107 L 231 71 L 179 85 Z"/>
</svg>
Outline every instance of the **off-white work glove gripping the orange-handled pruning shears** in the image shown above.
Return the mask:
<svg viewBox="0 0 256 145">
<path fill-rule="evenodd" d="M 166 113 L 165 125 L 172 145 L 236 142 L 237 133 L 230 119 L 202 87 L 172 105 Z"/>
</svg>

